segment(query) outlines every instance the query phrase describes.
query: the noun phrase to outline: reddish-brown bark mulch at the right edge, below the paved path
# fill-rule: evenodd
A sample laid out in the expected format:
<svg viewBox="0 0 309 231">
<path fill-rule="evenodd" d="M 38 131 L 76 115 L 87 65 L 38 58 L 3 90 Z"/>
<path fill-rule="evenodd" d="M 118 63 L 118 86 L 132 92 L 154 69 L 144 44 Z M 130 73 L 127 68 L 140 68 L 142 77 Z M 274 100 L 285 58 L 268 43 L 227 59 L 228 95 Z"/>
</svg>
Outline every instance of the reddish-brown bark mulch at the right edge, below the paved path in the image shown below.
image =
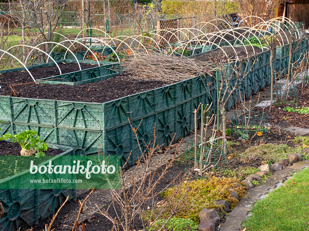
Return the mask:
<svg viewBox="0 0 309 231">
<path fill-rule="evenodd" d="M 269 122 L 279 123 L 287 127 L 293 126 L 299 128 L 309 128 L 309 114 L 283 111 L 283 108 L 285 107 L 309 107 L 308 87 L 298 89 L 296 103 L 290 104 L 287 102 L 275 105 L 272 107 L 272 111 L 270 113 L 268 113 L 269 107 L 266 107 L 265 111 L 269 115 Z"/>
</svg>

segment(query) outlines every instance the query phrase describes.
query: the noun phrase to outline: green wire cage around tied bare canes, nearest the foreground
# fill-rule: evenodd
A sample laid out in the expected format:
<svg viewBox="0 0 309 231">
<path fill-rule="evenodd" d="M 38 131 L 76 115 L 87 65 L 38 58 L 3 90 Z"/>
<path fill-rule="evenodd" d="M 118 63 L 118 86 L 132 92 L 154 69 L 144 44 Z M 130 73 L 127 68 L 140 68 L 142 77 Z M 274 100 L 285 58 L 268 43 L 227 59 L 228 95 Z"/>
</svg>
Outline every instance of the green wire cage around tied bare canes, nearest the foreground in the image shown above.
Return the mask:
<svg viewBox="0 0 309 231">
<path fill-rule="evenodd" d="M 226 166 L 227 141 L 217 137 L 206 143 L 197 144 L 195 153 L 194 137 L 187 142 L 185 171 L 188 175 L 196 178 L 205 178 L 208 172 L 216 171 L 223 173 Z"/>
</svg>

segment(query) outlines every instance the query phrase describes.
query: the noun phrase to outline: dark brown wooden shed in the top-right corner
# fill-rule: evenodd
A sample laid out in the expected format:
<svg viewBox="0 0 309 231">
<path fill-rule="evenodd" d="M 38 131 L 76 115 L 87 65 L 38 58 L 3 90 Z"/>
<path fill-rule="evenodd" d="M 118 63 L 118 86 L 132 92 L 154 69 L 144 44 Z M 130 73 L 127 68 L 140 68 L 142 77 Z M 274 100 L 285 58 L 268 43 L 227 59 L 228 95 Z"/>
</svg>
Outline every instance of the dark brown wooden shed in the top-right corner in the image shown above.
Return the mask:
<svg viewBox="0 0 309 231">
<path fill-rule="evenodd" d="M 278 17 L 285 16 L 293 22 L 303 22 L 304 28 L 309 27 L 309 0 L 282 1 L 278 7 Z"/>
</svg>

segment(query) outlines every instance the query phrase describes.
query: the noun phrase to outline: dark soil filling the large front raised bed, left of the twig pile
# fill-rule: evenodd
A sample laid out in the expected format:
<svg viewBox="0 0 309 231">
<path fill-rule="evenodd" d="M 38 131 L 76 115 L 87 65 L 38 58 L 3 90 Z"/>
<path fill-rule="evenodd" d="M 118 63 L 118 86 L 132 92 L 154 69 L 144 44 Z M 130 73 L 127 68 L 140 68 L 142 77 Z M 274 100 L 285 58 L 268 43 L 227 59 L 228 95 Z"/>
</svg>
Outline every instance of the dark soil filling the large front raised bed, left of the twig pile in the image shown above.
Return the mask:
<svg viewBox="0 0 309 231">
<path fill-rule="evenodd" d="M 81 63 L 81 65 L 84 63 Z M 82 65 L 84 69 L 95 67 L 95 65 Z M 79 70 L 76 63 L 61 64 L 63 73 Z M 31 69 L 36 79 L 59 75 L 56 66 Z M 148 91 L 167 85 L 163 81 L 138 81 L 132 76 L 122 74 L 95 83 L 82 85 L 67 84 L 37 84 L 33 82 L 28 72 L 8 72 L 0 75 L 0 95 L 11 95 L 10 84 L 29 83 L 14 86 L 19 97 L 35 99 L 56 99 L 79 102 L 104 103 L 110 100 Z M 13 95 L 12 95 L 13 96 Z"/>
</svg>

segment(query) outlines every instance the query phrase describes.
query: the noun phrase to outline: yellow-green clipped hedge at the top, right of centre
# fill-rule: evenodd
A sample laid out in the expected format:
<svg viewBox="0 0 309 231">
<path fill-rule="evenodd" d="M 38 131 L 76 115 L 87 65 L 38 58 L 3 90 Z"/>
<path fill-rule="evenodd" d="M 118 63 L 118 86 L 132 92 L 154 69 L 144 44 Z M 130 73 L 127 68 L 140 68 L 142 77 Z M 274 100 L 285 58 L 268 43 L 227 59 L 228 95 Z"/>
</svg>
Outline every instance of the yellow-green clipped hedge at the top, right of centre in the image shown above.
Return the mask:
<svg viewBox="0 0 309 231">
<path fill-rule="evenodd" d="M 226 1 L 224 3 L 228 14 L 237 13 L 238 7 L 235 2 Z M 205 7 L 211 11 L 212 1 L 162 1 L 162 14 L 205 14 Z M 189 9 L 189 11 L 188 11 Z M 216 2 L 217 12 L 222 12 L 219 1 Z M 191 12 L 190 12 L 191 11 Z"/>
</svg>

